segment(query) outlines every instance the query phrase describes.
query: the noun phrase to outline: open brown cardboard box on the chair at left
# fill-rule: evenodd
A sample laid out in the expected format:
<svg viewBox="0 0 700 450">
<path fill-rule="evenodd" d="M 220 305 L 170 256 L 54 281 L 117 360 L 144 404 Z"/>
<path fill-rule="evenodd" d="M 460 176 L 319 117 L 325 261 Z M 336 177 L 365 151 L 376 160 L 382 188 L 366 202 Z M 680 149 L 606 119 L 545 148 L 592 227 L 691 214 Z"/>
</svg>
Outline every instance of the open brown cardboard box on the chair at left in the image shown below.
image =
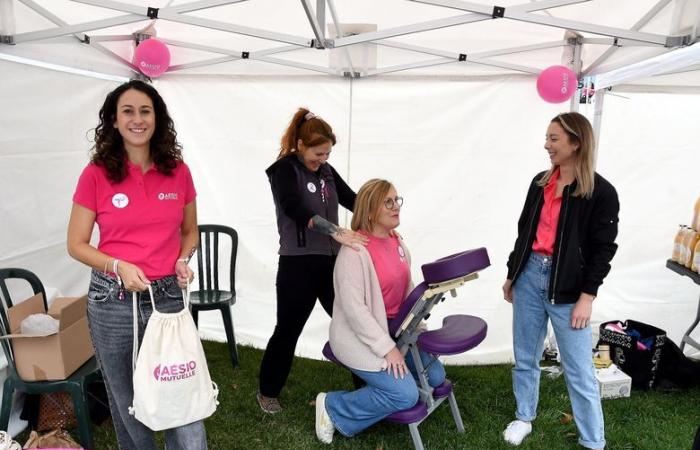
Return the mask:
<svg viewBox="0 0 700 450">
<path fill-rule="evenodd" d="M 7 311 L 12 352 L 20 378 L 25 381 L 63 380 L 94 354 L 87 323 L 87 296 L 59 297 L 48 314 L 59 321 L 58 333 L 22 335 L 20 324 L 30 314 L 46 313 L 41 294 Z"/>
</svg>

